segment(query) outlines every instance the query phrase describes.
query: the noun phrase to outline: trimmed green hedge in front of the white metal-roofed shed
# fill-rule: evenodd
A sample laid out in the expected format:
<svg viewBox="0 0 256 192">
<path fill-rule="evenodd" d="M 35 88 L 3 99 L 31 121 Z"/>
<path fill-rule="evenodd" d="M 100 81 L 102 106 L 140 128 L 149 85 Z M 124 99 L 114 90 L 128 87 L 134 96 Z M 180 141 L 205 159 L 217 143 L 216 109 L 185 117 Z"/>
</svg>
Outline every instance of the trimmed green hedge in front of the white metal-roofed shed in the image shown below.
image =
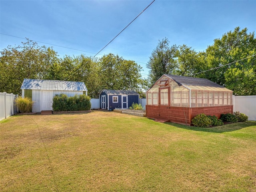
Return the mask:
<svg viewBox="0 0 256 192">
<path fill-rule="evenodd" d="M 68 97 L 66 94 L 60 94 L 53 97 L 52 109 L 54 111 L 84 111 L 90 108 L 90 97 L 86 95 Z"/>
</svg>

